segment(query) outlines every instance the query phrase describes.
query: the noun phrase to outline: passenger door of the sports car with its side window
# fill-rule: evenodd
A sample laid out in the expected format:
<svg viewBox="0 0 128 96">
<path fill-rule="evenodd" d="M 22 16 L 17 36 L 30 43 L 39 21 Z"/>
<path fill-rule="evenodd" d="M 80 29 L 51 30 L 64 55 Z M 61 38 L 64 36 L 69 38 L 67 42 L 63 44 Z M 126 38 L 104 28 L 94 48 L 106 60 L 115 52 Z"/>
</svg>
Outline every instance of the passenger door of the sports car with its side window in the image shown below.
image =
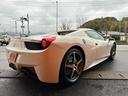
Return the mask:
<svg viewBox="0 0 128 96">
<path fill-rule="evenodd" d="M 107 56 L 108 41 L 95 30 L 88 30 L 86 33 L 96 46 L 96 60 L 105 58 Z"/>
</svg>

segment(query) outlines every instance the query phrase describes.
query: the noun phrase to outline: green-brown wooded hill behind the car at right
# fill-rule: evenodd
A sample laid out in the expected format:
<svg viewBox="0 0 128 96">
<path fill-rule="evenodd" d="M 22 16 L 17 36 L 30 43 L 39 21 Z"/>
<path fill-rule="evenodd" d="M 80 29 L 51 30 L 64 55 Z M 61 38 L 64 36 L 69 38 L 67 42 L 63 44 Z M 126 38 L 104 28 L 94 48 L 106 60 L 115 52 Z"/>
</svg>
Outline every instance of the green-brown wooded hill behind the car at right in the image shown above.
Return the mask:
<svg viewBox="0 0 128 96">
<path fill-rule="evenodd" d="M 97 31 L 128 31 L 128 17 L 118 20 L 115 17 L 101 17 L 85 22 L 80 28 L 91 28 Z"/>
</svg>

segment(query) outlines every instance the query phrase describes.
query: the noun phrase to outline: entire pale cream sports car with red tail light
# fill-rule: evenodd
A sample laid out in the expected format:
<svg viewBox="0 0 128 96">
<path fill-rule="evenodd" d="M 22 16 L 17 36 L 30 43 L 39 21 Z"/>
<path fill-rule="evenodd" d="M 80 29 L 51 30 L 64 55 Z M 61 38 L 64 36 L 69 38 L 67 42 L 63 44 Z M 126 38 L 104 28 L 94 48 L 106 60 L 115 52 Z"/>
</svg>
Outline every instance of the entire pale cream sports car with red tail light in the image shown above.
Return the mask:
<svg viewBox="0 0 128 96">
<path fill-rule="evenodd" d="M 72 84 L 81 73 L 116 54 L 116 42 L 93 29 L 11 38 L 9 66 L 29 71 L 46 83 Z"/>
</svg>

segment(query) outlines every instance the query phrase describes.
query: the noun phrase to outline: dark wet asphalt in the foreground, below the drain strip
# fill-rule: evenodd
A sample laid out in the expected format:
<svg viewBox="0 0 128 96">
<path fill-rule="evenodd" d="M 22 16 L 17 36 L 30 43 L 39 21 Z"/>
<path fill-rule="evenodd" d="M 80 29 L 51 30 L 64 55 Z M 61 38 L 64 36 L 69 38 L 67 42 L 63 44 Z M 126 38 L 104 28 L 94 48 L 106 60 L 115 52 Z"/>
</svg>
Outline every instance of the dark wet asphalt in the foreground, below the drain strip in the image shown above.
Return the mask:
<svg viewBox="0 0 128 96">
<path fill-rule="evenodd" d="M 0 79 L 0 96 L 128 96 L 128 81 L 79 80 L 67 88 L 24 79 Z"/>
</svg>

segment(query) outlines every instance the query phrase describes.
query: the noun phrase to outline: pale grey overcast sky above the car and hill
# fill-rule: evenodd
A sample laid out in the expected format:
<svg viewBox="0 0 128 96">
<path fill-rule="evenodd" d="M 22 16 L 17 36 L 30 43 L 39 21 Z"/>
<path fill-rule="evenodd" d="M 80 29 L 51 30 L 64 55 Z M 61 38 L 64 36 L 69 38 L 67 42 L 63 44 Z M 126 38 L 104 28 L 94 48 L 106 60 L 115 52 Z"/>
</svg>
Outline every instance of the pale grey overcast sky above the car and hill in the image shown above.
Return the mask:
<svg viewBox="0 0 128 96">
<path fill-rule="evenodd" d="M 56 0 L 2 0 L 0 3 L 0 32 L 15 31 L 14 21 L 30 16 L 30 31 L 50 32 L 56 27 Z M 59 0 L 58 22 L 70 21 L 76 27 L 78 18 L 85 21 L 97 17 L 128 16 L 128 0 Z M 18 31 L 21 31 L 18 22 Z"/>
</svg>

